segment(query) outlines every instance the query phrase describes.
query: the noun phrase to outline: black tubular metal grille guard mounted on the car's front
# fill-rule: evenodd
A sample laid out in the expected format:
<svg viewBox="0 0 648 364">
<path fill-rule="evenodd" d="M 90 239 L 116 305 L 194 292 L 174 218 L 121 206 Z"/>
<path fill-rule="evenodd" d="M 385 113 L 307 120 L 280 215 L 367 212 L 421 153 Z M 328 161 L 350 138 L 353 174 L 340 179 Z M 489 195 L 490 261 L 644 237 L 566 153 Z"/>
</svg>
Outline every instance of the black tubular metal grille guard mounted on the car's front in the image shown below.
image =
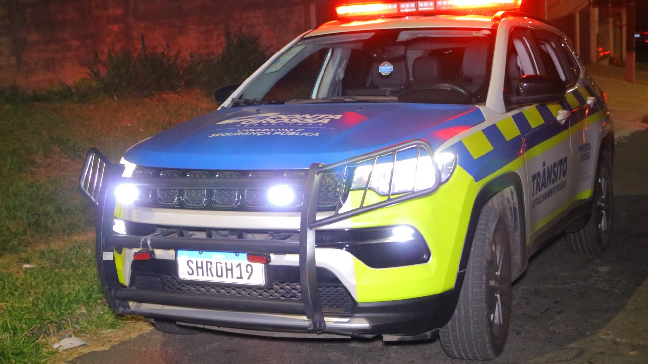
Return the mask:
<svg viewBox="0 0 648 364">
<path fill-rule="evenodd" d="M 416 148 L 417 166 L 423 153 L 432 157 L 432 147 L 428 142 L 422 140 L 412 140 L 395 144 L 388 148 L 376 150 L 375 152 L 359 155 L 345 161 L 333 163 L 330 165 L 321 165 L 313 163 L 308 168 L 308 175 L 304 185 L 304 179 L 299 177 L 285 177 L 277 179 L 276 177 L 186 177 L 181 179 L 159 179 L 145 177 L 122 177 L 124 166 L 111 163 L 110 160 L 101 154 L 96 148 L 91 148 L 87 155 L 79 177 L 79 189 L 86 198 L 97 205 L 97 258 L 102 259 L 102 252 L 112 251 L 119 248 L 143 248 L 150 249 L 176 249 L 179 244 L 183 249 L 188 250 L 213 250 L 246 252 L 246 253 L 277 253 L 277 254 L 299 254 L 299 274 L 301 279 L 301 290 L 303 299 L 303 308 L 307 318 L 310 320 L 309 330 L 322 332 L 327 325 L 324 320 L 321 305 L 319 303 L 318 285 L 316 276 L 315 263 L 315 230 L 318 227 L 340 222 L 353 216 L 365 214 L 367 212 L 382 209 L 403 201 L 419 198 L 432 193 L 439 185 L 440 175 L 438 168 L 434 168 L 436 176 L 435 183 L 430 188 L 400 193 L 398 196 L 392 196 L 392 181 L 394 175 L 394 163 L 397 161 L 397 154 L 404 150 Z M 319 184 L 323 174 L 333 170 L 345 170 L 345 179 L 353 176 L 347 176 L 349 166 L 360 163 L 369 163 L 372 165 L 372 172 L 376 165 L 376 160 L 380 157 L 391 155 L 392 169 L 389 181 L 389 191 L 386 199 L 365 205 L 365 197 L 369 190 L 371 181 L 371 172 L 367 178 L 364 188 L 362 201 L 356 209 L 340 212 L 342 201 L 338 202 L 336 210 L 332 216 L 325 218 L 316 218 Z M 232 240 L 224 238 L 179 238 L 179 237 L 162 237 L 162 236 L 124 236 L 113 235 L 113 224 L 115 219 L 115 187 L 122 183 L 128 183 L 142 188 L 191 188 L 191 189 L 209 189 L 209 188 L 257 188 L 263 189 L 273 183 L 281 183 L 292 187 L 303 186 L 304 203 L 301 209 L 301 230 L 299 242 L 286 240 Z M 345 185 L 345 183 L 343 183 Z M 145 243 L 146 241 L 146 243 Z M 146 245 L 146 246 L 144 246 Z M 100 280 L 104 294 L 113 295 L 111 292 L 123 291 L 117 287 L 110 287 L 106 281 L 103 272 L 103 264 L 98 264 Z M 114 269 L 114 268 L 113 268 Z M 113 290 L 111 290 L 111 288 Z M 123 293 L 123 292 L 119 292 Z M 123 294 L 118 294 L 123 299 Z"/>
</svg>

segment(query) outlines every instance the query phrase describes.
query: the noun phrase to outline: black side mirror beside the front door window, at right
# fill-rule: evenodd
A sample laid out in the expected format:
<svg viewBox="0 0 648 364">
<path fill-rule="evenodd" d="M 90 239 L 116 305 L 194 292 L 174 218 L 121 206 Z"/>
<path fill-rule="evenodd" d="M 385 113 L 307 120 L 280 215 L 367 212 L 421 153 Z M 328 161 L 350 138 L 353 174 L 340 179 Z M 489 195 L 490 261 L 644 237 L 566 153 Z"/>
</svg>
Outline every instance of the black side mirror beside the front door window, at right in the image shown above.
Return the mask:
<svg viewBox="0 0 648 364">
<path fill-rule="evenodd" d="M 515 104 L 535 104 L 561 100 L 567 88 L 559 76 L 548 74 L 525 74 L 518 84 L 517 97 L 511 97 Z"/>
</svg>

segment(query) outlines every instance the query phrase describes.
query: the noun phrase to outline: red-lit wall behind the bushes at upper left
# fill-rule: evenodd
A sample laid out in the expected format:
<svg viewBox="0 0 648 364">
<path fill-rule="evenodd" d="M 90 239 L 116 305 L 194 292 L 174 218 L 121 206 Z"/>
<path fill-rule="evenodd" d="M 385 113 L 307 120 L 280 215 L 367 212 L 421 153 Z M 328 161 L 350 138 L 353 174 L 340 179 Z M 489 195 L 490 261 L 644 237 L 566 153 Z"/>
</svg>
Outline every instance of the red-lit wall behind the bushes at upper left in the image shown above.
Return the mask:
<svg viewBox="0 0 648 364">
<path fill-rule="evenodd" d="M 268 51 L 311 28 L 321 0 L 0 0 L 0 87 L 43 89 L 86 76 L 94 52 L 168 44 L 218 53 L 225 32 L 260 37 Z"/>
</svg>

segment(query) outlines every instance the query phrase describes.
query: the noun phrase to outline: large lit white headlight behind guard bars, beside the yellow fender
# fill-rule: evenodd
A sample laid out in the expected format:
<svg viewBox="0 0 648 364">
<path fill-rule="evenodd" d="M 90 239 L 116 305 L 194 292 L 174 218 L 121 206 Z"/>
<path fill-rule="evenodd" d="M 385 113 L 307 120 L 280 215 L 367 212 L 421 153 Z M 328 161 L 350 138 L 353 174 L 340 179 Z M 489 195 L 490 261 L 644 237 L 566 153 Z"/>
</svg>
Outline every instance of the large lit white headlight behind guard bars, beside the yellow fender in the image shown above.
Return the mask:
<svg viewBox="0 0 648 364">
<path fill-rule="evenodd" d="M 396 163 L 384 163 L 384 160 L 383 163 L 377 162 L 373 168 L 371 164 L 356 168 L 351 190 L 364 190 L 369 181 L 369 189 L 386 196 L 389 194 L 390 179 L 393 195 L 432 188 L 448 180 L 457 164 L 457 157 L 452 153 L 442 152 L 434 155 L 434 162 L 429 155 L 421 155 L 418 159 L 397 160 Z"/>
</svg>

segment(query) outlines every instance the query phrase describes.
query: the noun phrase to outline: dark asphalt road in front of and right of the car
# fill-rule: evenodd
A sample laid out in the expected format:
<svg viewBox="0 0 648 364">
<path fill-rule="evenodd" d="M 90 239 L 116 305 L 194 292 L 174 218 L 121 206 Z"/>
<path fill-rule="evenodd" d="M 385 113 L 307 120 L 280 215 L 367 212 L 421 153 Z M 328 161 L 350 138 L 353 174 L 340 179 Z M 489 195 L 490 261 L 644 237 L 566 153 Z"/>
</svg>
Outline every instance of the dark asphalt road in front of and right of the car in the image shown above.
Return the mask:
<svg viewBox="0 0 648 364">
<path fill-rule="evenodd" d="M 509 341 L 498 363 L 648 363 L 648 132 L 617 146 L 614 240 L 603 256 L 559 238 L 513 286 Z M 454 363 L 437 341 L 314 341 L 152 330 L 73 363 Z"/>
</svg>

